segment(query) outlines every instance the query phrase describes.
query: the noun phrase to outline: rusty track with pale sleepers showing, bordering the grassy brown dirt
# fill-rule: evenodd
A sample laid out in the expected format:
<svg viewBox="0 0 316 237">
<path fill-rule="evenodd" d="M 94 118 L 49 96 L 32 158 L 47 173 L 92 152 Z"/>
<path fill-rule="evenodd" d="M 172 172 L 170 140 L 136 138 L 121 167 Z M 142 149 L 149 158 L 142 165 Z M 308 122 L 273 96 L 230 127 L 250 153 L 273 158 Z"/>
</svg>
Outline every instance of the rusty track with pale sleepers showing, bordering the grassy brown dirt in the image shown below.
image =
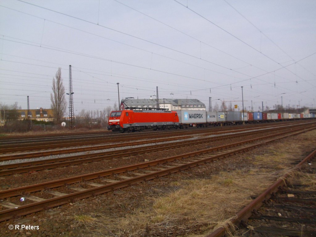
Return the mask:
<svg viewBox="0 0 316 237">
<path fill-rule="evenodd" d="M 76 202 L 79 199 L 123 188 L 137 182 L 193 168 L 226 156 L 253 149 L 259 145 L 313 129 L 314 127 L 308 129 L 300 128 L 297 129 L 297 131 L 290 129 L 290 131 L 287 132 L 259 137 L 222 147 L 203 149 L 136 165 L 0 191 L 0 199 L 2 200 L 0 204 L 3 208 L 9 208 L 0 211 L 0 221 L 69 202 Z M 287 134 L 285 135 L 285 133 Z M 271 137 L 274 138 L 271 139 Z M 93 180 L 93 182 L 91 180 Z M 64 185 L 67 185 L 67 187 L 64 187 Z M 18 206 L 17 203 L 19 203 L 21 198 L 27 200 L 27 202 L 25 205 Z"/>
</svg>

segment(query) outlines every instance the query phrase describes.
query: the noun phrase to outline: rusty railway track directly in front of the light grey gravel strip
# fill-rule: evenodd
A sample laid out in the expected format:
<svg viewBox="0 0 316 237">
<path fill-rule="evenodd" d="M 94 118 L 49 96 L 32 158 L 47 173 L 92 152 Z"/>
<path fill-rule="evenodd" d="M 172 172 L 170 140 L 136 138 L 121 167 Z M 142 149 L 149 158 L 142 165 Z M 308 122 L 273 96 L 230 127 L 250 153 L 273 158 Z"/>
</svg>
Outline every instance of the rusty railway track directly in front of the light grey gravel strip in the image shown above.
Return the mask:
<svg viewBox="0 0 316 237">
<path fill-rule="evenodd" d="M 302 125 L 302 126 L 306 126 L 306 125 Z M 286 128 L 289 128 L 289 127 L 286 127 Z M 275 131 L 280 131 L 286 128 L 284 127 L 269 128 L 264 131 L 275 132 Z M 262 133 L 262 130 L 252 131 L 252 132 L 247 132 L 247 133 L 220 135 L 217 137 L 204 137 L 204 138 L 198 138 L 198 139 L 193 139 L 193 140 L 177 141 L 173 143 L 165 143 L 165 144 L 157 144 L 157 145 L 151 144 L 148 146 L 142 146 L 142 147 L 136 147 L 136 148 L 120 149 L 120 150 L 107 151 L 107 152 L 97 152 L 93 154 L 90 153 L 90 154 L 84 154 L 84 155 L 75 155 L 75 156 L 68 156 L 68 157 L 63 157 L 63 158 L 30 161 L 30 162 L 18 162 L 14 164 L 0 166 L 0 176 L 16 174 L 16 173 L 24 173 L 24 172 L 30 172 L 30 171 L 38 171 L 38 170 L 43 170 L 43 169 L 52 169 L 56 167 L 65 167 L 65 166 L 70 166 L 70 165 L 78 165 L 82 163 L 95 162 L 95 161 L 125 157 L 125 156 L 130 156 L 130 155 L 138 155 L 138 154 L 143 154 L 143 153 L 148 153 L 148 152 L 159 151 L 163 149 L 183 147 L 187 145 L 191 146 L 195 144 L 210 143 L 210 142 L 215 142 L 215 141 L 219 141 L 223 139 L 244 137 L 244 136 L 260 134 L 260 133 Z"/>
</svg>

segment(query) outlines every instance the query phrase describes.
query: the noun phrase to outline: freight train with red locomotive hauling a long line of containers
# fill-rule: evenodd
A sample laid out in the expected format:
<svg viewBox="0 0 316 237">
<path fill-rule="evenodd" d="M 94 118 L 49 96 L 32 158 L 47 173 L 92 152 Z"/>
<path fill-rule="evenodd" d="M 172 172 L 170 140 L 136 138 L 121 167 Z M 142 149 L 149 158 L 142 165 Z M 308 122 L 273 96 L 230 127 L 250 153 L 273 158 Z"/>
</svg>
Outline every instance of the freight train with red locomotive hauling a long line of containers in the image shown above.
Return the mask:
<svg viewBox="0 0 316 237">
<path fill-rule="evenodd" d="M 120 132 L 188 127 L 238 125 L 315 118 L 315 114 L 265 112 L 206 112 L 203 110 L 118 110 L 109 117 L 108 130 Z"/>
</svg>

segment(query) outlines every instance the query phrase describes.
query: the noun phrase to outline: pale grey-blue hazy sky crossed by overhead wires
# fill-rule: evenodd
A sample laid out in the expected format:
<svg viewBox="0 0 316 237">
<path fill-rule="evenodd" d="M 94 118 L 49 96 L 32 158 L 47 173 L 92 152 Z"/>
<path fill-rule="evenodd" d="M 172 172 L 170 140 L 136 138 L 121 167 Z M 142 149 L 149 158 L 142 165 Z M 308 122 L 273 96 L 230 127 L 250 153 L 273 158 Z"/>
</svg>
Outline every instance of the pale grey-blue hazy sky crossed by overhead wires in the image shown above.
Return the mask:
<svg viewBox="0 0 316 237">
<path fill-rule="evenodd" d="M 71 65 L 75 115 L 156 87 L 207 108 L 315 108 L 315 12 L 313 0 L 1 0 L 0 103 L 49 109 Z"/>
</svg>

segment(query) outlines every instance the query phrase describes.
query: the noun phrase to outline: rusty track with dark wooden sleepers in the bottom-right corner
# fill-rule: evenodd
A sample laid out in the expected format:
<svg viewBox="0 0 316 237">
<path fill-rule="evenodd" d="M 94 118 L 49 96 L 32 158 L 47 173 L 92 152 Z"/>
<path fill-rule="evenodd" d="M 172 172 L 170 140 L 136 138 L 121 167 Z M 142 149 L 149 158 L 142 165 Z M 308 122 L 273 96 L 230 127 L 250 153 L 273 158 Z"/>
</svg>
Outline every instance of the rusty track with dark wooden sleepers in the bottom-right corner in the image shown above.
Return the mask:
<svg viewBox="0 0 316 237">
<path fill-rule="evenodd" d="M 290 170 L 315 174 L 312 163 L 303 167 L 315 156 L 316 150 Z M 289 175 L 280 177 L 231 219 L 237 230 L 221 227 L 207 237 L 226 236 L 227 230 L 234 232 L 234 236 L 316 236 L 316 192 L 302 191 L 304 185 L 289 183 Z"/>
</svg>

